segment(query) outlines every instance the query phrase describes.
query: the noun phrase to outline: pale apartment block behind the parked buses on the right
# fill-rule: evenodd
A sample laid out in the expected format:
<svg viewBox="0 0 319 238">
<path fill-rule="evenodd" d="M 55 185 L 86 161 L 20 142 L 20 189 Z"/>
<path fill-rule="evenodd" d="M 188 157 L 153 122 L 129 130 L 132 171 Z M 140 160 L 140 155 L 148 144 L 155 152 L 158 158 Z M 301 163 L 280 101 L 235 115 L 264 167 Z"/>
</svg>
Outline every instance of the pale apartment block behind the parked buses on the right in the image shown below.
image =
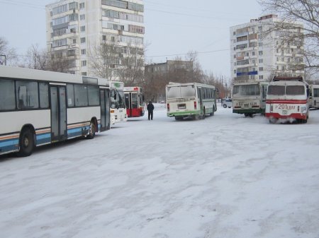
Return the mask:
<svg viewBox="0 0 319 238">
<path fill-rule="evenodd" d="M 230 28 L 230 70 L 233 80 L 269 81 L 273 76 L 303 76 L 301 23 L 272 30 L 283 22 L 271 14 Z"/>
</svg>

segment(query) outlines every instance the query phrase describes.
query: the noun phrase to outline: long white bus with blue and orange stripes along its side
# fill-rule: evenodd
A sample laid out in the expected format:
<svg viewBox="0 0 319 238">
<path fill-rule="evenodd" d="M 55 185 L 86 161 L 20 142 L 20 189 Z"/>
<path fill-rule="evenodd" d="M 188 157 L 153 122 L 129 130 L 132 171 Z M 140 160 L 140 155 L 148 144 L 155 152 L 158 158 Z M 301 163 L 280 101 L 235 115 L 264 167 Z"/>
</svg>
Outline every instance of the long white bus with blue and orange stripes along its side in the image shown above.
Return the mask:
<svg viewBox="0 0 319 238">
<path fill-rule="evenodd" d="M 0 155 L 110 129 L 106 79 L 0 66 Z"/>
</svg>

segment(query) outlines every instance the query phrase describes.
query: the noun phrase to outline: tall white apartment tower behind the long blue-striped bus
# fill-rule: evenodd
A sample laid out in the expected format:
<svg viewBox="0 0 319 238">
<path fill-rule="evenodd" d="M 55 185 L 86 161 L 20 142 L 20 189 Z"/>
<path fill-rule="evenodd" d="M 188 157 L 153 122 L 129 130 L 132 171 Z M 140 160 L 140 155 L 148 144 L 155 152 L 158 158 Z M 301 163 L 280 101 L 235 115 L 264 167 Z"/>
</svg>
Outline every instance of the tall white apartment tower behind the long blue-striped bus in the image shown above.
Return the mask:
<svg viewBox="0 0 319 238">
<path fill-rule="evenodd" d="M 69 73 L 121 80 L 144 70 L 142 0 L 60 0 L 46 6 L 47 52 Z"/>
</svg>

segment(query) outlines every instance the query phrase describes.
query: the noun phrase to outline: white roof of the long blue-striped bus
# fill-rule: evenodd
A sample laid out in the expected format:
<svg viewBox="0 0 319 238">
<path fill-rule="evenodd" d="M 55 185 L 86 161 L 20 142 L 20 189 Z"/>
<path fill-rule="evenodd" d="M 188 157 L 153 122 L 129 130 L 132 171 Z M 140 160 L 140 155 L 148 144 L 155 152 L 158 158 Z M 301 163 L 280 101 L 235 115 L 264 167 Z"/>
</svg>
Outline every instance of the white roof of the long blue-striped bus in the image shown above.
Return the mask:
<svg viewBox="0 0 319 238">
<path fill-rule="evenodd" d="M 108 81 L 105 78 L 78 76 L 71 73 L 60 73 L 11 66 L 0 66 L 0 78 L 23 78 L 23 80 L 29 79 L 57 83 L 86 83 L 108 86 Z"/>
</svg>

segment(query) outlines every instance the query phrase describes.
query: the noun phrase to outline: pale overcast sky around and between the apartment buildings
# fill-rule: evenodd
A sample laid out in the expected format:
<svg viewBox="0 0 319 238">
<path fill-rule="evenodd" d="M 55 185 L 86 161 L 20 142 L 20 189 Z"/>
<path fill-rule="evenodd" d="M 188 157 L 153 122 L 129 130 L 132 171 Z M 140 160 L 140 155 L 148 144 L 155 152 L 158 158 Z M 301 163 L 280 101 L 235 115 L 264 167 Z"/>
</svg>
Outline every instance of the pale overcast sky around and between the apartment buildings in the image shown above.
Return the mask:
<svg viewBox="0 0 319 238">
<path fill-rule="evenodd" d="M 0 36 L 18 54 L 31 44 L 46 47 L 45 5 L 55 0 L 0 0 Z M 146 63 L 161 63 L 190 51 L 206 73 L 230 77 L 229 28 L 262 16 L 255 0 L 145 0 Z"/>
</svg>

